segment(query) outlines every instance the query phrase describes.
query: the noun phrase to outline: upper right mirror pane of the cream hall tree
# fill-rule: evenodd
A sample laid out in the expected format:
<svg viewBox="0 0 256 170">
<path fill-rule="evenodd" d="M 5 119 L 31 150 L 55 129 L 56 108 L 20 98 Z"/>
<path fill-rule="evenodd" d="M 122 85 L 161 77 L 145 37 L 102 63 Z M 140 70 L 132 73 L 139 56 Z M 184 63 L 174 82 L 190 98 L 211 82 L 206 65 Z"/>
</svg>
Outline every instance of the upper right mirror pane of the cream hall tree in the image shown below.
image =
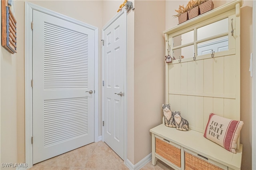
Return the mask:
<svg viewBox="0 0 256 170">
<path fill-rule="evenodd" d="M 228 18 L 197 29 L 197 40 L 216 36 L 228 32 Z"/>
</svg>

